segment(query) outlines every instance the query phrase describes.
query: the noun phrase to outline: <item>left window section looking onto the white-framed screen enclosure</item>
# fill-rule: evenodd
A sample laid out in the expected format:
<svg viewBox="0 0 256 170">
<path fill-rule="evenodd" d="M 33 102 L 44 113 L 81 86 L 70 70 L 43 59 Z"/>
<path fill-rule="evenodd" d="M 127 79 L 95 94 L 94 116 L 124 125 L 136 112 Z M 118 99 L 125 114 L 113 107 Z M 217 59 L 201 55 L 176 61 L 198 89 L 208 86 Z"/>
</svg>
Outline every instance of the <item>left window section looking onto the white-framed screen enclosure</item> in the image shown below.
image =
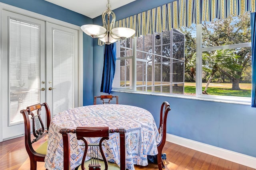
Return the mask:
<svg viewBox="0 0 256 170">
<path fill-rule="evenodd" d="M 120 42 L 113 87 L 138 92 L 184 93 L 184 34 L 178 30 Z M 135 46 L 135 45 L 134 45 Z M 132 85 L 132 59 L 136 61 L 136 88 Z M 134 78 L 135 79 L 135 78 Z"/>
</svg>

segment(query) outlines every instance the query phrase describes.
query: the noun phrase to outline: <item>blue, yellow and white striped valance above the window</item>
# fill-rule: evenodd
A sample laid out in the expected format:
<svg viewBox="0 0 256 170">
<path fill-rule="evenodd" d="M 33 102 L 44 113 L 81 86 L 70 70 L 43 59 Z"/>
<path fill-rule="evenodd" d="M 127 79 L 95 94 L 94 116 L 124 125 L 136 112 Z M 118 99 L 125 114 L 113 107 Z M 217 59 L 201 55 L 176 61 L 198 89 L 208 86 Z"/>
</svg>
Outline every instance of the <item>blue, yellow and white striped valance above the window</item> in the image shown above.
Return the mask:
<svg viewBox="0 0 256 170">
<path fill-rule="evenodd" d="M 115 27 L 132 28 L 138 37 L 247 11 L 256 11 L 255 0 L 176 0 L 116 21 Z"/>
</svg>

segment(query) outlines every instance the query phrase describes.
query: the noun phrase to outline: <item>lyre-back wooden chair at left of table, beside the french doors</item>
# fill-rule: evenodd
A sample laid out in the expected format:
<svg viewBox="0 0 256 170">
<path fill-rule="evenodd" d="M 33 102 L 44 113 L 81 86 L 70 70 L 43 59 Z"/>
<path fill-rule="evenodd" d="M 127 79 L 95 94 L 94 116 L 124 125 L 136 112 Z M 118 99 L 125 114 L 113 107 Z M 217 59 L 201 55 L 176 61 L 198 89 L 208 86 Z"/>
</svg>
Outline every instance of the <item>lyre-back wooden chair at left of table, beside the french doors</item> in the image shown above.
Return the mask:
<svg viewBox="0 0 256 170">
<path fill-rule="evenodd" d="M 45 107 L 46 110 L 46 130 L 44 129 L 44 123 L 41 119 L 41 109 L 42 106 Z M 25 147 L 28 152 L 28 156 L 30 158 L 30 170 L 36 170 L 37 162 L 44 162 L 44 158 L 46 155 L 48 141 L 44 142 L 38 149 L 34 150 L 32 147 L 32 143 L 42 139 L 47 133 L 50 126 L 51 113 L 47 103 L 43 104 L 35 104 L 33 106 L 28 106 L 27 109 L 23 109 L 20 111 L 24 118 L 25 125 Z M 35 139 L 31 140 L 31 131 L 30 131 L 30 116 L 32 119 L 32 128 L 33 135 Z"/>
</svg>

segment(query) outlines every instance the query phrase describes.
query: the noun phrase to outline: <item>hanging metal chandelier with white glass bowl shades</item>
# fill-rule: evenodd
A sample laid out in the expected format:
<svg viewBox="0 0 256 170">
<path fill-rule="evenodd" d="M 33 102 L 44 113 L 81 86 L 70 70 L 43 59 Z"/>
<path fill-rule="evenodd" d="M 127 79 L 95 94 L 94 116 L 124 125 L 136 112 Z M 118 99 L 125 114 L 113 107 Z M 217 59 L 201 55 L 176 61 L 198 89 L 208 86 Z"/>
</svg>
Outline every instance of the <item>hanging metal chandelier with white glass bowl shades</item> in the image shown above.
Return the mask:
<svg viewBox="0 0 256 170">
<path fill-rule="evenodd" d="M 92 38 L 99 38 L 106 44 L 111 44 L 116 42 L 118 39 L 126 39 L 134 35 L 134 29 L 126 28 L 126 27 L 114 27 L 116 21 L 116 15 L 112 10 L 110 10 L 111 5 L 108 0 L 107 10 L 102 13 L 102 22 L 103 26 L 86 24 L 82 25 L 81 29 L 87 35 L 90 35 Z M 110 15 L 112 16 L 112 20 L 110 23 Z M 107 21 L 106 21 L 107 17 Z"/>
</svg>

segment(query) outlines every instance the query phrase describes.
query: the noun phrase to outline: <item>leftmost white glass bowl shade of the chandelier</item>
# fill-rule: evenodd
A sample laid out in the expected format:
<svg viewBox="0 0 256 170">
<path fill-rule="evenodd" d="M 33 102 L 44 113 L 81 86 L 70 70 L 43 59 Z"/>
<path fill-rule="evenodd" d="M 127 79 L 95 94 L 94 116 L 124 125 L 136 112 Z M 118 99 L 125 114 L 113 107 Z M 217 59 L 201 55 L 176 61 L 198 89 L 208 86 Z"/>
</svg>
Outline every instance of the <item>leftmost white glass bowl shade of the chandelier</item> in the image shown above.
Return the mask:
<svg viewBox="0 0 256 170">
<path fill-rule="evenodd" d="M 92 24 L 86 24 L 81 26 L 82 31 L 86 33 L 87 35 L 90 35 L 93 38 L 96 38 L 104 33 L 106 33 L 107 29 L 99 26 L 99 25 L 92 25 Z"/>
</svg>

